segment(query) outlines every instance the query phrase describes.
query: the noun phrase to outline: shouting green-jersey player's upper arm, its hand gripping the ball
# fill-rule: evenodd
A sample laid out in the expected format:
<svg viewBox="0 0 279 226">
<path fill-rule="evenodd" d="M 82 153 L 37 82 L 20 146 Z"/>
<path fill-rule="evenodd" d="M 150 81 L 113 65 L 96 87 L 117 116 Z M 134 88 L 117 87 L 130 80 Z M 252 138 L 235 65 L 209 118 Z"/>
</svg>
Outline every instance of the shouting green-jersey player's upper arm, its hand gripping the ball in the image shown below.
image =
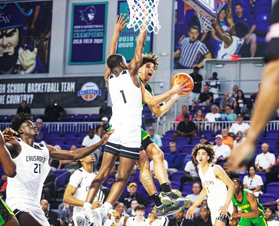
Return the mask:
<svg viewBox="0 0 279 226">
<path fill-rule="evenodd" d="M 168 100 L 172 95 L 176 93 L 184 93 L 188 94 L 188 91 L 190 91 L 191 88 L 185 88 L 190 83 L 186 83 L 187 80 L 184 80 L 181 84 L 177 84 L 177 79 L 175 80 L 175 83 L 173 85 L 173 88 L 167 91 L 166 93 L 163 93 L 161 95 L 152 96 L 150 92 L 148 92 L 145 88 L 142 82 L 140 82 L 141 85 L 141 93 L 142 93 L 142 100 L 147 103 L 149 106 L 156 106 L 159 105 L 166 100 Z"/>
</svg>

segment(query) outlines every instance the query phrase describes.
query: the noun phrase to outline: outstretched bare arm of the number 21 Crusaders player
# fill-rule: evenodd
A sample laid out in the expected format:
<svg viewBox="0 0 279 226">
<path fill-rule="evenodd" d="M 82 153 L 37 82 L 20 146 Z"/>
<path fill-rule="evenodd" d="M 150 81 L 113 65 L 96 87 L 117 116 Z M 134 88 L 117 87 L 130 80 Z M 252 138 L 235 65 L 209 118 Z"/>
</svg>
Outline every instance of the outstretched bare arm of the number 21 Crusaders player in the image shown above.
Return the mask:
<svg viewBox="0 0 279 226">
<path fill-rule="evenodd" d="M 86 148 L 77 149 L 75 151 L 63 151 L 57 150 L 53 146 L 47 145 L 47 149 L 49 150 L 49 158 L 53 158 L 56 160 L 79 160 L 86 156 L 89 156 L 91 153 L 99 149 L 103 144 L 105 144 L 109 136 L 114 132 L 114 129 L 109 130 L 107 133 L 104 134 L 102 140 L 99 141 L 97 144 L 93 144 Z"/>
</svg>

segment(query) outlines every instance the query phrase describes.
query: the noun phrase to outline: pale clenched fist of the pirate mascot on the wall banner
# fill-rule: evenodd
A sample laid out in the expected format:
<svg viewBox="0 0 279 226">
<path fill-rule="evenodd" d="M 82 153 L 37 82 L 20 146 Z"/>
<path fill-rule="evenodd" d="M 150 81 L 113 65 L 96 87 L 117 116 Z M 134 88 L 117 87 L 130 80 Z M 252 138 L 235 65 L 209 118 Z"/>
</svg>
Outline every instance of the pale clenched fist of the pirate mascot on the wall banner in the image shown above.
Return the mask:
<svg viewBox="0 0 279 226">
<path fill-rule="evenodd" d="M 24 50 L 18 56 L 19 62 L 21 64 L 21 66 L 23 67 L 24 73 L 28 74 L 34 70 L 37 51 L 38 51 L 37 48 L 35 48 L 33 50 L 33 52 L 31 52 L 30 50 Z"/>
</svg>

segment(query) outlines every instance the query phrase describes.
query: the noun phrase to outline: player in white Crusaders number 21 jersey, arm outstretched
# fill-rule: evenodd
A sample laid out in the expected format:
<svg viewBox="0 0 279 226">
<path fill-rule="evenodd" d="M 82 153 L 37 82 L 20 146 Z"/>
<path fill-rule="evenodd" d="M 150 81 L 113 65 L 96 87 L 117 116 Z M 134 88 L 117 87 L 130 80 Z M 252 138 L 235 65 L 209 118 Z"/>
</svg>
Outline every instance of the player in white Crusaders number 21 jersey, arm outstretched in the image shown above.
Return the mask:
<svg viewBox="0 0 279 226">
<path fill-rule="evenodd" d="M 21 226 L 49 226 L 40 206 L 44 181 L 49 173 L 49 158 L 79 160 L 99 149 L 114 130 L 106 133 L 97 144 L 76 151 L 57 150 L 53 146 L 35 143 L 39 135 L 30 114 L 20 113 L 12 119 L 11 128 L 5 131 L 6 147 L 17 165 L 17 175 L 8 177 L 6 202 L 15 213 Z M 18 133 L 18 139 L 13 136 Z"/>
</svg>

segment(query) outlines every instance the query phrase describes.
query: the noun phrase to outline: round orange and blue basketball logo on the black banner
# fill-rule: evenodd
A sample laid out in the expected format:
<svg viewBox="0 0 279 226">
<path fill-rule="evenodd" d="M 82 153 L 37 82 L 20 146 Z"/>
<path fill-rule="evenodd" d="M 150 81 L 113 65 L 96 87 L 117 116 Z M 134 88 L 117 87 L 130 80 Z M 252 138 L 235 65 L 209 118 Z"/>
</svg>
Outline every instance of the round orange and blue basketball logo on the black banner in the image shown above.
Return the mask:
<svg viewBox="0 0 279 226">
<path fill-rule="evenodd" d="M 77 93 L 77 96 L 81 96 L 81 98 L 86 101 L 94 100 L 97 96 L 101 95 L 102 91 L 95 82 L 86 82 Z"/>
</svg>

